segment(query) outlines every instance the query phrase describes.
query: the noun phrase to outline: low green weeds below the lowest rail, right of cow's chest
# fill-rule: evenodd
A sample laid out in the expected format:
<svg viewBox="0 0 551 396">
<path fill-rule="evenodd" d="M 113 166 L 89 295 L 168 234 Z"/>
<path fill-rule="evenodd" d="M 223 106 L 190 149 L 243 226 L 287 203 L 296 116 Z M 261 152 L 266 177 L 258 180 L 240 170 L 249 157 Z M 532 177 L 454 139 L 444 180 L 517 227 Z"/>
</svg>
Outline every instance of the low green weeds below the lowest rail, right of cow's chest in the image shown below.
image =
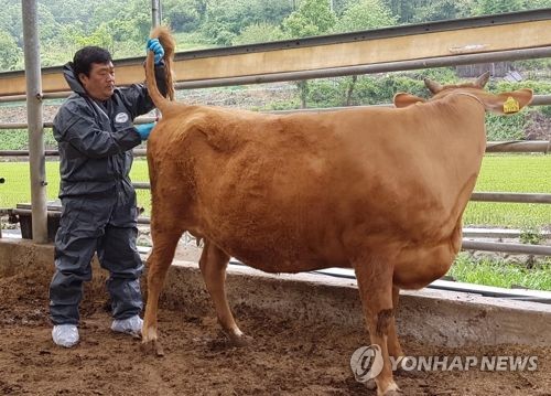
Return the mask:
<svg viewBox="0 0 551 396">
<path fill-rule="evenodd" d="M 449 275 L 455 280 L 503 288 L 523 287 L 533 290 L 551 290 L 551 263 L 533 268 L 507 264 L 497 259 L 475 260 L 467 253 L 455 259 Z"/>
</svg>

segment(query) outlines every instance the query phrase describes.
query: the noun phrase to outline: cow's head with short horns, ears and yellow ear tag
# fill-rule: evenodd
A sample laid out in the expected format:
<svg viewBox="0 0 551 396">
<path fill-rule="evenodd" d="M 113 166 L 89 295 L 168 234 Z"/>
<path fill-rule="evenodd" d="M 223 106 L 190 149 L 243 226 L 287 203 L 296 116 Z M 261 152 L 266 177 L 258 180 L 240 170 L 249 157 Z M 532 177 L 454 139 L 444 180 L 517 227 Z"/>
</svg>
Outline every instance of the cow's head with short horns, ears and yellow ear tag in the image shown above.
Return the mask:
<svg viewBox="0 0 551 396">
<path fill-rule="evenodd" d="M 424 85 L 432 93 L 430 99 L 425 100 L 415 95 L 399 93 L 395 95 L 395 106 L 408 107 L 414 104 L 442 99 L 454 94 L 463 94 L 476 97 L 478 101 L 484 105 L 486 110 L 498 114 L 514 114 L 518 113 L 532 100 L 533 93 L 528 88 L 497 95 L 490 94 L 484 90 L 484 86 L 488 82 L 488 78 L 489 72 L 484 73 L 475 82 L 456 85 L 441 85 L 432 79 L 425 78 Z"/>
</svg>

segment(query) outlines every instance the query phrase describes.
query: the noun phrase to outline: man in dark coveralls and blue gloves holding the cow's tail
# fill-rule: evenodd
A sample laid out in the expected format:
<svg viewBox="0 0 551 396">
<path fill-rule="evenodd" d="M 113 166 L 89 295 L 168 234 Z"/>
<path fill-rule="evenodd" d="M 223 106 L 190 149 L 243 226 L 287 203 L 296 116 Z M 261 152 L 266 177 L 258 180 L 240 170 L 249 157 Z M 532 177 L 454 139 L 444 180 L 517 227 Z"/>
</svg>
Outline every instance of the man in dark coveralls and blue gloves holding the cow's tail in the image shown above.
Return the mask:
<svg viewBox="0 0 551 396">
<path fill-rule="evenodd" d="M 163 47 L 149 40 L 155 54 L 155 74 L 166 90 Z M 109 272 L 111 329 L 141 332 L 140 276 L 143 265 L 136 248 L 136 192 L 129 179 L 131 149 L 145 140 L 154 124 L 133 126 L 133 119 L 153 108 L 143 85 L 115 86 L 108 51 L 87 46 L 64 66 L 74 92 L 54 119 L 60 147 L 62 216 L 55 236 L 55 274 L 50 285 L 50 315 L 55 344 L 78 342 L 78 304 L 83 281 L 91 279 L 90 261 L 97 251 Z"/>
</svg>

